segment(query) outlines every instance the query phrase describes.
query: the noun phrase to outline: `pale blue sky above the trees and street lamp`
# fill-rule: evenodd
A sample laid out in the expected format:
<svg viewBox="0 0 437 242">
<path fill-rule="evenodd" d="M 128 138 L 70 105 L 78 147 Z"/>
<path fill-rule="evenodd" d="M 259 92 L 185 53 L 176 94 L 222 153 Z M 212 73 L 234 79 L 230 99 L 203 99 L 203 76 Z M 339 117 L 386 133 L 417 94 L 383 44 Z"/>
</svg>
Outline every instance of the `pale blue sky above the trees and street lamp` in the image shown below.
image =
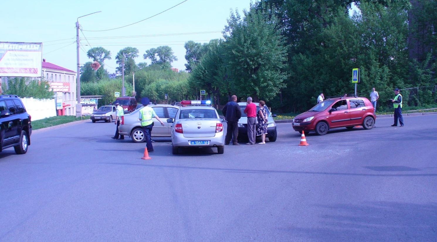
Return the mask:
<svg viewBox="0 0 437 242">
<path fill-rule="evenodd" d="M 76 19 L 101 11 L 79 18 L 81 64 L 91 61 L 86 54 L 88 49 L 102 46 L 110 50 L 112 56 L 105 61 L 105 68 L 114 73 L 115 56 L 120 49 L 136 47 L 139 49 L 136 63 L 150 63 L 142 57 L 147 49 L 170 46 L 178 58 L 172 63 L 173 67 L 185 70 L 184 43 L 189 40 L 206 43 L 222 38 L 231 9 L 242 13 L 243 9 L 249 9 L 250 3 L 250 0 L 6 0 L 1 4 L 0 42 L 42 42 L 42 58 L 76 71 Z M 118 28 L 171 7 L 148 20 Z M 118 29 L 91 32 L 112 28 Z"/>
</svg>

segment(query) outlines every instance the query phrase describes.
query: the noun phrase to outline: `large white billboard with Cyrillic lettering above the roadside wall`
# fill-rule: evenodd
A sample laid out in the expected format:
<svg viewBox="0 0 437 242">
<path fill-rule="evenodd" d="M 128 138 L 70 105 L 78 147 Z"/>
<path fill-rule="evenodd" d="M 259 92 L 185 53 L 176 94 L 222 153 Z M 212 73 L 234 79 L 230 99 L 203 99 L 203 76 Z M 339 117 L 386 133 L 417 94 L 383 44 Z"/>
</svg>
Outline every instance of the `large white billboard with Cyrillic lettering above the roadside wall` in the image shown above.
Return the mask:
<svg viewBox="0 0 437 242">
<path fill-rule="evenodd" d="M 42 43 L 0 42 L 0 77 L 41 77 Z"/>
</svg>

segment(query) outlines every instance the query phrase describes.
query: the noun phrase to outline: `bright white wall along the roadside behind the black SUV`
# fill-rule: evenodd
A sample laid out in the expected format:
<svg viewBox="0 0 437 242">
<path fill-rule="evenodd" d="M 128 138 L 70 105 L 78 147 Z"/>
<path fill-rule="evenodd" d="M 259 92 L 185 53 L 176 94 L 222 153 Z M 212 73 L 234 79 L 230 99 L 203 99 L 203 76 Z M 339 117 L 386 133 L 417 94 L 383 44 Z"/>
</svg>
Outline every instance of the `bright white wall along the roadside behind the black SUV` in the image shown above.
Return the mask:
<svg viewBox="0 0 437 242">
<path fill-rule="evenodd" d="M 56 116 L 55 99 L 20 98 L 32 121 Z"/>
</svg>

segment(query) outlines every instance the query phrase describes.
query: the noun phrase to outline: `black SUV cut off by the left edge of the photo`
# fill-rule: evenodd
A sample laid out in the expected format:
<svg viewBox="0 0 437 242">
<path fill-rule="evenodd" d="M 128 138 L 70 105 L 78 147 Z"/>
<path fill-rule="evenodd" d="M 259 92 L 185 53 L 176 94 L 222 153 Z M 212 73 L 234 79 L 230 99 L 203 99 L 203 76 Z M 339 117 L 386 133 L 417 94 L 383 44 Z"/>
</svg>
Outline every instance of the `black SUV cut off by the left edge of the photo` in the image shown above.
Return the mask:
<svg viewBox="0 0 437 242">
<path fill-rule="evenodd" d="M 14 147 L 26 154 L 32 134 L 31 116 L 17 95 L 0 95 L 0 151 Z"/>
</svg>

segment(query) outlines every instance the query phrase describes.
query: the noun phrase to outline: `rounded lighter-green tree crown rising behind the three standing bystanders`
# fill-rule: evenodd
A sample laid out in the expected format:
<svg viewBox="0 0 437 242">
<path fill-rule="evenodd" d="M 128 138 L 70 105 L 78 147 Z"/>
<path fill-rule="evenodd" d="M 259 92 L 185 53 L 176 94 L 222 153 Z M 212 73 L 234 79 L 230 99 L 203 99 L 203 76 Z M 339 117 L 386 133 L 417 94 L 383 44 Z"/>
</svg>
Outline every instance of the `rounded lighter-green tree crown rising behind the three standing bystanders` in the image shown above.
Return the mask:
<svg viewBox="0 0 437 242">
<path fill-rule="evenodd" d="M 270 100 L 285 87 L 287 47 L 277 18 L 264 9 L 231 14 L 224 31 L 225 64 L 236 93 Z"/>
</svg>

